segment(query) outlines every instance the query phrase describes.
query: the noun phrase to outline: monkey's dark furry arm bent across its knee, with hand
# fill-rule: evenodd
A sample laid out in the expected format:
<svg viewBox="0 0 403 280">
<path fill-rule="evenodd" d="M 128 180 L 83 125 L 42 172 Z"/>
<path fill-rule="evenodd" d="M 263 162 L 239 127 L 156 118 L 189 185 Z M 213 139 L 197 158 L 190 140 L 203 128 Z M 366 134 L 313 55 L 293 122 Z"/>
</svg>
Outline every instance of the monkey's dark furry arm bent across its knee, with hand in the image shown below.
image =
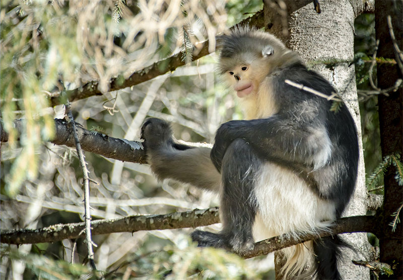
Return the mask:
<svg viewBox="0 0 403 280">
<path fill-rule="evenodd" d="M 331 154 L 331 143 L 319 118 L 296 120 L 279 114 L 266 119 L 229 121 L 218 129 L 211 153 L 217 170 L 221 170 L 227 147 L 237 138 L 246 140 L 262 159 L 283 165 L 318 168 Z"/>
</svg>

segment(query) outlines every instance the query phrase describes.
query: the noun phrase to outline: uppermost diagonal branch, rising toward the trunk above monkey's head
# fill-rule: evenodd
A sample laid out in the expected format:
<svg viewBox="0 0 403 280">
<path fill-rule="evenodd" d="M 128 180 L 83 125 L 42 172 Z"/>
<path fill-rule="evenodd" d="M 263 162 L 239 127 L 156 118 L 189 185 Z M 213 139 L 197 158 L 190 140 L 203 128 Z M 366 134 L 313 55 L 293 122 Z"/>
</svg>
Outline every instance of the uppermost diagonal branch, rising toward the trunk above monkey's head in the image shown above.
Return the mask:
<svg viewBox="0 0 403 280">
<path fill-rule="evenodd" d="M 263 11 L 259 11 L 256 14 L 254 14 L 252 17 L 247 18 L 238 25 L 253 25 L 256 28 L 261 28 L 263 27 Z M 195 53 L 192 56 L 192 60 L 197 60 L 200 57 L 206 56 L 210 54 L 209 52 L 209 41 L 204 41 L 201 42 L 199 45 L 200 47 L 196 46 Z M 166 65 L 166 66 L 165 66 Z M 185 65 L 185 61 L 182 60 L 182 53 L 179 52 L 177 54 L 174 54 L 168 58 L 162 59 L 160 61 L 157 61 L 153 63 L 150 66 L 147 66 L 141 70 L 137 70 L 133 72 L 128 78 L 123 79 L 120 76 L 114 77 L 110 79 L 109 81 L 109 90 L 108 91 L 113 91 L 113 90 L 118 90 L 122 89 L 125 87 L 129 87 L 132 85 L 136 85 L 139 83 L 142 83 L 147 80 L 151 80 L 152 78 L 155 78 L 159 75 L 165 74 L 169 71 L 174 71 L 176 68 L 179 66 Z M 69 99 L 70 102 L 85 99 L 91 96 L 96 96 L 96 95 L 102 95 L 103 92 L 101 92 L 98 89 L 99 81 L 94 80 L 87 82 L 86 84 L 72 89 L 72 90 L 66 90 L 66 97 Z M 61 101 L 59 99 L 60 92 L 57 92 L 50 98 L 50 105 L 51 106 L 56 106 L 61 104 Z"/>
</svg>

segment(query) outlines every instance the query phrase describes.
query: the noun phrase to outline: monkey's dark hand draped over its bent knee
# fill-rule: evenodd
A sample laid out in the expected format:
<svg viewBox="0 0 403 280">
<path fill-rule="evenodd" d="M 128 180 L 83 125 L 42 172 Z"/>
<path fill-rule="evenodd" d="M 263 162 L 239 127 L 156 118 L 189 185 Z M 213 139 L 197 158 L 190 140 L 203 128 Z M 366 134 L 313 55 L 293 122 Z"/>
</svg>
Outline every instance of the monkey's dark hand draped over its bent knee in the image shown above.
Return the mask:
<svg viewBox="0 0 403 280">
<path fill-rule="evenodd" d="M 213 149 L 210 153 L 210 158 L 216 166 L 218 172 L 221 172 L 221 165 L 224 158 L 224 154 L 227 151 L 228 146 L 236 139 L 240 138 L 236 136 L 238 123 L 242 121 L 229 121 L 222 124 L 216 133 L 216 140 Z M 239 134 L 238 134 L 239 135 Z"/>
</svg>

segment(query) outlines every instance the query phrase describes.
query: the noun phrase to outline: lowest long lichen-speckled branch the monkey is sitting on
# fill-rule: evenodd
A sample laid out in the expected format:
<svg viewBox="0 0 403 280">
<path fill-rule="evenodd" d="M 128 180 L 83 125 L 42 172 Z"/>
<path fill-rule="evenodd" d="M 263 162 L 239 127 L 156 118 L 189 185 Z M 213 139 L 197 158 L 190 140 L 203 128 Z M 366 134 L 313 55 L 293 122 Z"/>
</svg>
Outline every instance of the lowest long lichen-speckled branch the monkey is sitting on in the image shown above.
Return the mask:
<svg viewBox="0 0 403 280">
<path fill-rule="evenodd" d="M 140 230 L 162 230 L 178 228 L 195 228 L 219 223 L 218 208 L 172 213 L 166 215 L 129 216 L 111 220 L 92 221 L 92 234 L 109 234 L 114 232 L 135 232 Z M 8 244 L 32 244 L 55 242 L 67 238 L 77 238 L 84 229 L 84 223 L 57 224 L 41 229 L 22 229 L 2 231 L 0 240 Z M 320 231 L 317 234 L 300 234 L 299 238 L 286 235 L 276 236 L 255 243 L 254 249 L 239 253 L 244 258 L 265 255 L 292 245 L 303 243 L 320 237 L 340 233 L 374 232 L 376 218 L 374 216 L 355 216 L 342 218 L 331 231 Z"/>
</svg>

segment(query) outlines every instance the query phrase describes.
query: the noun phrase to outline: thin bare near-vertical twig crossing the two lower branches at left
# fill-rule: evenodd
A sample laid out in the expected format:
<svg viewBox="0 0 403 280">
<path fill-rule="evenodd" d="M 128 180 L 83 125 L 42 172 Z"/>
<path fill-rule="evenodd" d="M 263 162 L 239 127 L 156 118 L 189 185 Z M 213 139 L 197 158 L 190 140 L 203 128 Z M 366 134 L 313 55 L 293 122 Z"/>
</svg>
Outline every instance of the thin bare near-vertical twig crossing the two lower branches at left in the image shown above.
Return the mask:
<svg viewBox="0 0 403 280">
<path fill-rule="evenodd" d="M 94 261 L 94 250 L 92 248 L 94 242 L 91 239 L 91 212 L 90 212 L 90 177 L 89 171 L 87 169 L 87 163 L 85 162 L 84 153 L 81 149 L 80 140 L 76 131 L 76 124 L 74 123 L 74 118 L 71 110 L 70 102 L 66 104 L 66 115 L 69 119 L 69 122 L 72 126 L 74 140 L 76 142 L 76 150 L 79 156 L 81 169 L 83 170 L 84 176 L 84 221 L 85 221 L 85 233 L 86 233 L 86 243 L 88 250 L 88 260 L 90 262 L 90 266 L 93 270 L 96 270 Z"/>
</svg>

